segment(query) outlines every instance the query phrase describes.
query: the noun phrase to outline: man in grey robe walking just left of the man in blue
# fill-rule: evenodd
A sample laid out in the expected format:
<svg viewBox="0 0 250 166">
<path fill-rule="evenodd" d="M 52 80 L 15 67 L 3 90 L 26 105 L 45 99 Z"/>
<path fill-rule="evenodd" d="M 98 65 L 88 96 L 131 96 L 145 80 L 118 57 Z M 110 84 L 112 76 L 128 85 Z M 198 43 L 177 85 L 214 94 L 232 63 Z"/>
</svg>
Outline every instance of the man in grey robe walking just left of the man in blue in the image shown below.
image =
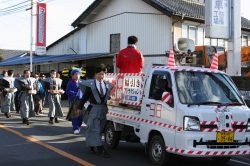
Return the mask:
<svg viewBox="0 0 250 166">
<path fill-rule="evenodd" d="M 44 82 L 44 90 L 48 92 L 49 103 L 49 123 L 59 123 L 58 118 L 63 117 L 63 110 L 60 103 L 59 94 L 63 94 L 64 91 L 61 88 L 62 80 L 56 78 L 56 70 L 50 71 L 50 77 L 42 80 Z"/>
</svg>

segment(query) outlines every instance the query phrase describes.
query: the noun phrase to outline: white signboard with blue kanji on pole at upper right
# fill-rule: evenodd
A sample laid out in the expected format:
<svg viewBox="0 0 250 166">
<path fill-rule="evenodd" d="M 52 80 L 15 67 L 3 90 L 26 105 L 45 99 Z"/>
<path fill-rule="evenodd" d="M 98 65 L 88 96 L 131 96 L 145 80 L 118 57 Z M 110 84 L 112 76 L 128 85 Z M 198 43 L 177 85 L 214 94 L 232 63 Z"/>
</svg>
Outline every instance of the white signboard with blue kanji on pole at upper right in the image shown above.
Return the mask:
<svg viewBox="0 0 250 166">
<path fill-rule="evenodd" d="M 231 0 L 205 1 L 205 37 L 231 38 Z"/>
</svg>

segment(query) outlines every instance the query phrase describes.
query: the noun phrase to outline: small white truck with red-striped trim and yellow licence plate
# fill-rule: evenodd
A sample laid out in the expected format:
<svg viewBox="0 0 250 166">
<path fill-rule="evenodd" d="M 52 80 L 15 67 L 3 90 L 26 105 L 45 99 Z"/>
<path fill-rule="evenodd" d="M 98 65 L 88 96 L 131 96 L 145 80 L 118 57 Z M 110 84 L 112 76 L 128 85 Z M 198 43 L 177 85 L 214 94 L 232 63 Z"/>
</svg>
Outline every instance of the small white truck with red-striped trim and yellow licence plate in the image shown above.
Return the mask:
<svg viewBox="0 0 250 166">
<path fill-rule="evenodd" d="M 145 74 L 107 73 L 105 143 L 141 142 L 154 165 L 170 153 L 226 163 L 250 154 L 250 109 L 219 70 L 152 65 Z"/>
</svg>

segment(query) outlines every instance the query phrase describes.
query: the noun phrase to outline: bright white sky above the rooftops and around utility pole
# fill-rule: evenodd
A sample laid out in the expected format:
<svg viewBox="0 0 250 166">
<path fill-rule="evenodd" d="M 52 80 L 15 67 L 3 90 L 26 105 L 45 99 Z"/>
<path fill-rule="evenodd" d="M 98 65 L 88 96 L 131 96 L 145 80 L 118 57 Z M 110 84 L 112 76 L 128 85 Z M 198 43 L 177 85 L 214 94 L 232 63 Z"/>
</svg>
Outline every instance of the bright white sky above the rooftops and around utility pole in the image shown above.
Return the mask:
<svg viewBox="0 0 250 166">
<path fill-rule="evenodd" d="M 0 0 L 0 11 L 1 9 L 25 1 L 27 0 Z M 47 3 L 46 45 L 50 45 L 72 31 L 73 27 L 71 26 L 71 23 L 93 1 L 94 0 L 44 0 L 43 3 Z M 249 6 L 250 0 L 241 0 L 241 14 L 243 17 L 250 20 Z M 33 10 L 33 14 L 35 13 L 36 8 Z M 3 15 L 0 12 L 0 49 L 30 50 L 30 17 L 31 11 L 25 11 L 25 9 L 23 9 L 21 12 L 7 15 Z M 36 40 L 35 30 L 36 17 L 33 16 L 33 44 Z M 33 51 L 34 50 L 35 46 L 33 45 Z"/>
</svg>

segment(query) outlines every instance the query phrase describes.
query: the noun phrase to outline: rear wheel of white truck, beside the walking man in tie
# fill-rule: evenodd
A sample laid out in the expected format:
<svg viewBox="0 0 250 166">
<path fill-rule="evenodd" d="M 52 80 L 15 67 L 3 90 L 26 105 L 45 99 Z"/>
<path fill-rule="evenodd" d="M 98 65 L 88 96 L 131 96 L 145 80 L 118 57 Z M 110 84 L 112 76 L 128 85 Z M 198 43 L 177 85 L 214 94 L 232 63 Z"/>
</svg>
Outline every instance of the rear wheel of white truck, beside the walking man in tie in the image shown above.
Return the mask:
<svg viewBox="0 0 250 166">
<path fill-rule="evenodd" d="M 105 143 L 107 147 L 109 147 L 110 149 L 117 148 L 120 141 L 120 135 L 121 132 L 115 131 L 114 126 L 111 123 L 109 123 L 105 128 L 105 134 L 104 134 Z"/>
</svg>

